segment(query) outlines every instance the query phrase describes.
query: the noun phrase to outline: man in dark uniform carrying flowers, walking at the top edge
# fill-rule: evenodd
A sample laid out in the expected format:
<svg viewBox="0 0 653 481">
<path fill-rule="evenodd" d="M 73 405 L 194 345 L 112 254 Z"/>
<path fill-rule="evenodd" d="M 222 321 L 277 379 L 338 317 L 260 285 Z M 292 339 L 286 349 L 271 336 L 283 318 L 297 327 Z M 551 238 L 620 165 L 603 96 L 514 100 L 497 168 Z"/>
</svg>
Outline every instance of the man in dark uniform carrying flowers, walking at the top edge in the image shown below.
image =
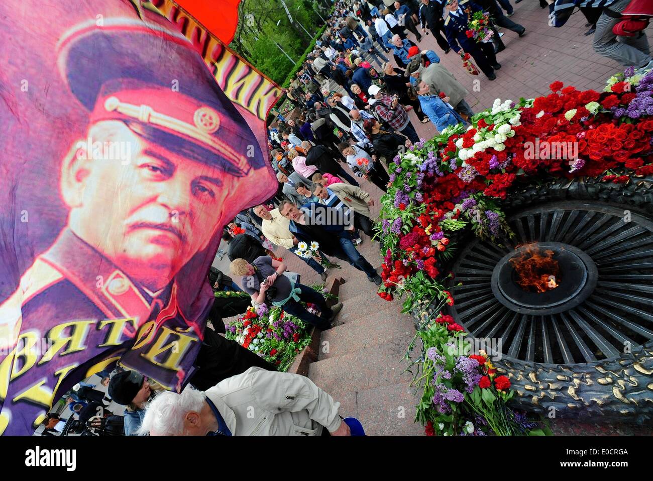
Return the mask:
<svg viewBox="0 0 653 481">
<path fill-rule="evenodd" d="M 466 34 L 471 16 L 474 12 L 482 12 L 483 8 L 470 0 L 448 0 L 445 9 L 445 33 L 449 46 L 461 56 L 464 52 L 470 54 L 487 78 L 494 80 L 494 71 L 500 69 L 501 64 L 496 61 L 492 42 L 477 42 Z"/>
</svg>

